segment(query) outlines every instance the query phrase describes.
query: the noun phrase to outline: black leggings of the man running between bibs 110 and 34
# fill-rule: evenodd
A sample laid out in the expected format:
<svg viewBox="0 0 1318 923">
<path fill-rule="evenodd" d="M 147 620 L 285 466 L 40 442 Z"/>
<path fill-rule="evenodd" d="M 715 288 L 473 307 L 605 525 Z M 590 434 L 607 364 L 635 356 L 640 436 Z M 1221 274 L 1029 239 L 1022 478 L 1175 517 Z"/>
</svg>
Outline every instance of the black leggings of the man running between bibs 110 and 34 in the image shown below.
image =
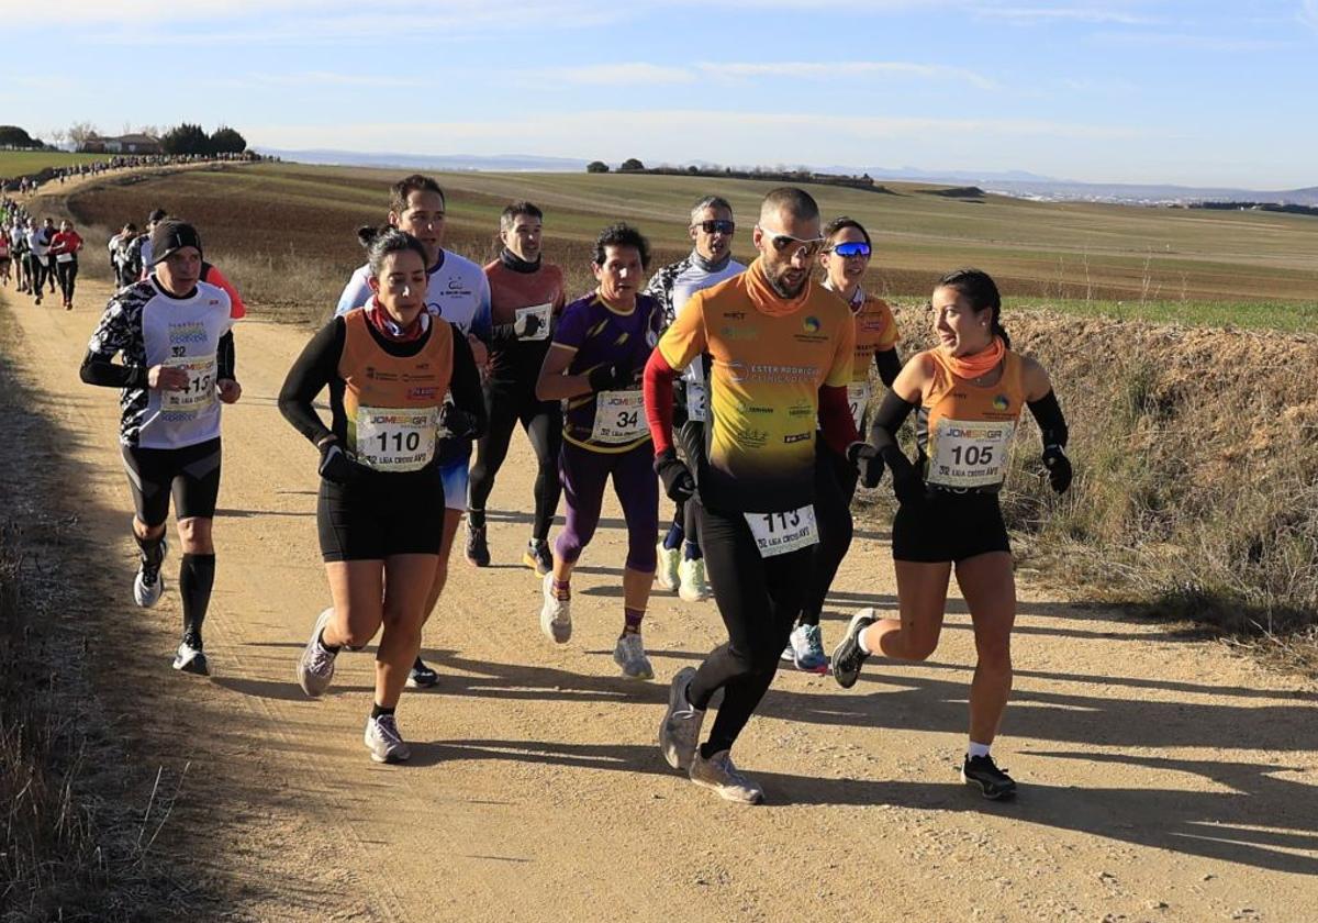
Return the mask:
<svg viewBox="0 0 1318 923">
<path fill-rule="evenodd" d="M 467 493 L 468 516 L 473 526 L 485 525 L 485 501 L 494 489 L 513 430 L 521 422 L 535 450 L 535 521 L 531 537 L 543 542 L 559 508 L 563 485 L 559 483 L 559 448 L 563 446 L 563 411 L 558 401 L 536 401 L 535 385 L 492 380 L 485 384 L 485 413 L 489 429 L 476 443 L 476 464 Z"/>
</svg>

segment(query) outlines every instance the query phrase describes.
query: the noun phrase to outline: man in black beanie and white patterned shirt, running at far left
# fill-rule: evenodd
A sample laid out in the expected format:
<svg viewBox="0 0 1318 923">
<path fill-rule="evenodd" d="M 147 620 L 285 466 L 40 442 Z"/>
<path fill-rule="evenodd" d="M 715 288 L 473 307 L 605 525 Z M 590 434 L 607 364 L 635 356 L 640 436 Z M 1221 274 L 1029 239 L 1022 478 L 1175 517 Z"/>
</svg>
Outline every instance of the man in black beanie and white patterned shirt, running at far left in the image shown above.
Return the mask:
<svg viewBox="0 0 1318 923">
<path fill-rule="evenodd" d="M 233 315 L 229 297 L 200 281 L 202 239 L 191 224 L 161 222 L 152 232 L 156 265 L 109 299 L 87 344 L 82 380 L 120 388 L 123 446 L 141 564 L 137 605 L 165 591 L 165 521 L 174 497 L 183 546 L 178 588 L 183 638 L 174 669 L 207 675 L 202 625 L 215 584 L 211 526 L 220 491 L 220 403 L 235 403 Z M 123 355 L 123 364 L 112 360 Z"/>
</svg>

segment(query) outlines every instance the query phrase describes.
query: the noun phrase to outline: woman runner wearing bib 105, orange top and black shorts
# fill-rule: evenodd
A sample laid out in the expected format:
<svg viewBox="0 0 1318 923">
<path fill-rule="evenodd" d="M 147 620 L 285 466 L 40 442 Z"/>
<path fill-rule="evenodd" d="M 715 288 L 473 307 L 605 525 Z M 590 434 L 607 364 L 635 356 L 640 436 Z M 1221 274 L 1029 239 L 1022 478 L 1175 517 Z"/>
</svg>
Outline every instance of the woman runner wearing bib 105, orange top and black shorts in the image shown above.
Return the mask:
<svg viewBox="0 0 1318 923">
<path fill-rule="evenodd" d="M 1016 583 L 998 492 L 1020 411 L 1043 434 L 1053 491 L 1070 487 L 1066 419 L 1044 367 L 1012 352 L 998 286 L 978 269 L 940 280 L 931 299 L 938 345 L 911 357 L 874 417 L 870 442 L 892 472 L 900 502 L 892 563 L 900 620 L 861 609 L 833 651 L 833 675 L 855 684 L 870 654 L 924 661 L 938 646 L 953 570 L 975 630 L 970 741 L 961 778 L 985 798 L 1010 798 L 1016 783 L 990 756 L 1011 694 Z M 916 463 L 896 443 L 916 411 Z"/>
</svg>

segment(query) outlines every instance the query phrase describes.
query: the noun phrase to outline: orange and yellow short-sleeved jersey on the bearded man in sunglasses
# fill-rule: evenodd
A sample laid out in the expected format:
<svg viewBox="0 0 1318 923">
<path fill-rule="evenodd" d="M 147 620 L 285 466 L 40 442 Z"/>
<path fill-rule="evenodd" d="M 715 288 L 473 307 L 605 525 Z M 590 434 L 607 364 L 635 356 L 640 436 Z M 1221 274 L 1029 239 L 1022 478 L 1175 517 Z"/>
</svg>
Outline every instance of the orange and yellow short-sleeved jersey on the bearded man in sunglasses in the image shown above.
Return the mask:
<svg viewBox="0 0 1318 923">
<path fill-rule="evenodd" d="M 692 295 L 658 348 L 677 371 L 710 357 L 701 502 L 746 513 L 813 502 L 818 390 L 851 380 L 855 349 L 851 313 L 837 295 L 808 282 L 783 301 L 757 260 Z"/>
</svg>

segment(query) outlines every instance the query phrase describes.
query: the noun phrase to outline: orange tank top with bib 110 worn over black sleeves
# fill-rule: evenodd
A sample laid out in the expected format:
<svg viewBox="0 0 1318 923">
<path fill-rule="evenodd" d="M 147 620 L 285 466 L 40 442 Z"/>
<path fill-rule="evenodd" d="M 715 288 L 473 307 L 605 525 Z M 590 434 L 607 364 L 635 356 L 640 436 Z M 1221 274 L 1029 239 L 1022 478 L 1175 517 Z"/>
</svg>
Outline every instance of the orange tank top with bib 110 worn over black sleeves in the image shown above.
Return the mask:
<svg viewBox="0 0 1318 923">
<path fill-rule="evenodd" d="M 420 471 L 435 459 L 439 409 L 453 376 L 453 328 L 430 320 L 415 356 L 390 356 L 369 330 L 366 313 L 344 315 L 339 356 L 348 447 L 374 471 Z"/>
</svg>

